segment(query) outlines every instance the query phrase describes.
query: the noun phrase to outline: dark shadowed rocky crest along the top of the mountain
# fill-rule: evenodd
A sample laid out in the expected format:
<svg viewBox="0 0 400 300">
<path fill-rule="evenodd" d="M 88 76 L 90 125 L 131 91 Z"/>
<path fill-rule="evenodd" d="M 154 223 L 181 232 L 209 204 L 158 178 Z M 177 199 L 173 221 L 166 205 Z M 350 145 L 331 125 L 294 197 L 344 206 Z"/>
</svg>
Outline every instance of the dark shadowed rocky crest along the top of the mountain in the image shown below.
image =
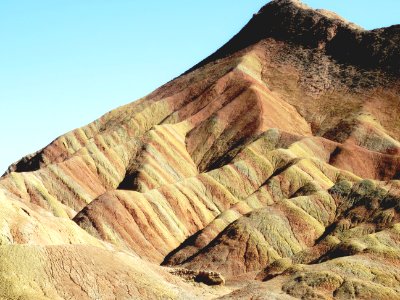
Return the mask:
<svg viewBox="0 0 400 300">
<path fill-rule="evenodd" d="M 336 13 L 298 0 L 267 3 L 237 35 L 189 71 L 268 38 L 323 51 L 342 64 L 400 72 L 399 26 L 364 30 Z"/>
</svg>

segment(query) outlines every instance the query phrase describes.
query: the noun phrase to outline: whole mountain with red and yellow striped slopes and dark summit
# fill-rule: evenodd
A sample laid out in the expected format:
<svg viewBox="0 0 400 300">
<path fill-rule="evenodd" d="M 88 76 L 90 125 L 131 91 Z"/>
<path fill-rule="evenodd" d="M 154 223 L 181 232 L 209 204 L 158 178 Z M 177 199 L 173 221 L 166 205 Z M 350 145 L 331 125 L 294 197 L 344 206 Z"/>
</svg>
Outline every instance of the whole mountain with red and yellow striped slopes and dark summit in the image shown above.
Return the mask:
<svg viewBox="0 0 400 300">
<path fill-rule="evenodd" d="M 275 0 L 0 179 L 3 299 L 400 299 L 400 26 Z"/>
</svg>

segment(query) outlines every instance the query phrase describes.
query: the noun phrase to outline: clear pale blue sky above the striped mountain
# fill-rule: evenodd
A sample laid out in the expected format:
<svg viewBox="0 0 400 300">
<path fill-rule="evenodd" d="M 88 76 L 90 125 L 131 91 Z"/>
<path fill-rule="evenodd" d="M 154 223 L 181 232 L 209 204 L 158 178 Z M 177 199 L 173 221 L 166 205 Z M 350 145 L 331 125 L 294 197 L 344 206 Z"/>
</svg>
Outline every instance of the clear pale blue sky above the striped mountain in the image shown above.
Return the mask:
<svg viewBox="0 0 400 300">
<path fill-rule="evenodd" d="M 179 76 L 267 2 L 0 0 L 0 174 Z M 399 0 L 303 2 L 366 29 L 400 23 Z"/>
</svg>

